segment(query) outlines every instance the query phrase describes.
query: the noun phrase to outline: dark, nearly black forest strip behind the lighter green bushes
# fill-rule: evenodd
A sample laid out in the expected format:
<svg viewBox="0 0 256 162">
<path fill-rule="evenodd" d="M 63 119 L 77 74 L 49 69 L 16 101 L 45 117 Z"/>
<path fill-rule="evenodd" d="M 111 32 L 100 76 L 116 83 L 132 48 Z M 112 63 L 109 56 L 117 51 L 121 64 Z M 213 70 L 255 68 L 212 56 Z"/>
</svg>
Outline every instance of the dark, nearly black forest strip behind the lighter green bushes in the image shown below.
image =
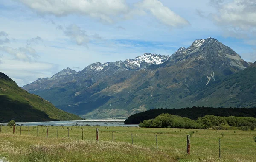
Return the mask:
<svg viewBox="0 0 256 162">
<path fill-rule="evenodd" d="M 205 115 L 214 115 L 219 117 L 256 117 L 256 108 L 213 108 L 213 107 L 192 107 L 183 109 L 151 109 L 145 112 L 140 112 L 128 117 L 125 124 L 139 124 L 144 120 L 154 119 L 160 114 L 172 114 L 180 117 L 187 117 L 192 120 L 197 120 Z"/>
</svg>

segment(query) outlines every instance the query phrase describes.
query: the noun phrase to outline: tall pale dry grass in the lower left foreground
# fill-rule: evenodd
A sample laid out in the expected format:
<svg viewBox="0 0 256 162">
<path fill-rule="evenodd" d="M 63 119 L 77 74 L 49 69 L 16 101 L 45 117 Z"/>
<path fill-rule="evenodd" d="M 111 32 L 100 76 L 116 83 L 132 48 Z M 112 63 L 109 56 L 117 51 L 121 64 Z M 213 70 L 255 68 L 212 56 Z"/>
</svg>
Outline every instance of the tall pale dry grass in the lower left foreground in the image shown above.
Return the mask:
<svg viewBox="0 0 256 162">
<path fill-rule="evenodd" d="M 0 156 L 10 162 L 174 162 L 163 151 L 128 142 L 71 140 L 0 134 Z"/>
</svg>

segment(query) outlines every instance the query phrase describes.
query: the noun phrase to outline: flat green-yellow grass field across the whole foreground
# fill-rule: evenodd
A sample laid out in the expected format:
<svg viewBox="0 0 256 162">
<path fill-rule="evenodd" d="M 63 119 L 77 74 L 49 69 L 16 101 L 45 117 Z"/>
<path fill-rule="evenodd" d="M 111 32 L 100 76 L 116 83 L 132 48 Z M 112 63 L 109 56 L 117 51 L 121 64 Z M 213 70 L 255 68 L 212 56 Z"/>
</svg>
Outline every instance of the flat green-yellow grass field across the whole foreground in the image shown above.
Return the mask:
<svg viewBox="0 0 256 162">
<path fill-rule="evenodd" d="M 58 128 L 58 138 L 56 129 Z M 0 157 L 10 162 L 20 161 L 180 161 L 180 162 L 255 162 L 256 131 L 216 131 L 139 127 L 74 127 L 50 126 L 48 138 L 45 126 L 2 126 Z M 82 140 L 82 128 L 84 140 Z M 99 142 L 96 142 L 99 128 Z M 112 142 L 112 131 L 114 143 Z M 191 138 L 191 155 L 186 155 L 186 135 Z M 134 145 L 131 144 L 131 133 Z M 223 133 L 223 136 L 222 136 Z M 156 138 L 158 150 L 156 149 Z M 218 139 L 221 137 L 221 160 Z"/>
</svg>

